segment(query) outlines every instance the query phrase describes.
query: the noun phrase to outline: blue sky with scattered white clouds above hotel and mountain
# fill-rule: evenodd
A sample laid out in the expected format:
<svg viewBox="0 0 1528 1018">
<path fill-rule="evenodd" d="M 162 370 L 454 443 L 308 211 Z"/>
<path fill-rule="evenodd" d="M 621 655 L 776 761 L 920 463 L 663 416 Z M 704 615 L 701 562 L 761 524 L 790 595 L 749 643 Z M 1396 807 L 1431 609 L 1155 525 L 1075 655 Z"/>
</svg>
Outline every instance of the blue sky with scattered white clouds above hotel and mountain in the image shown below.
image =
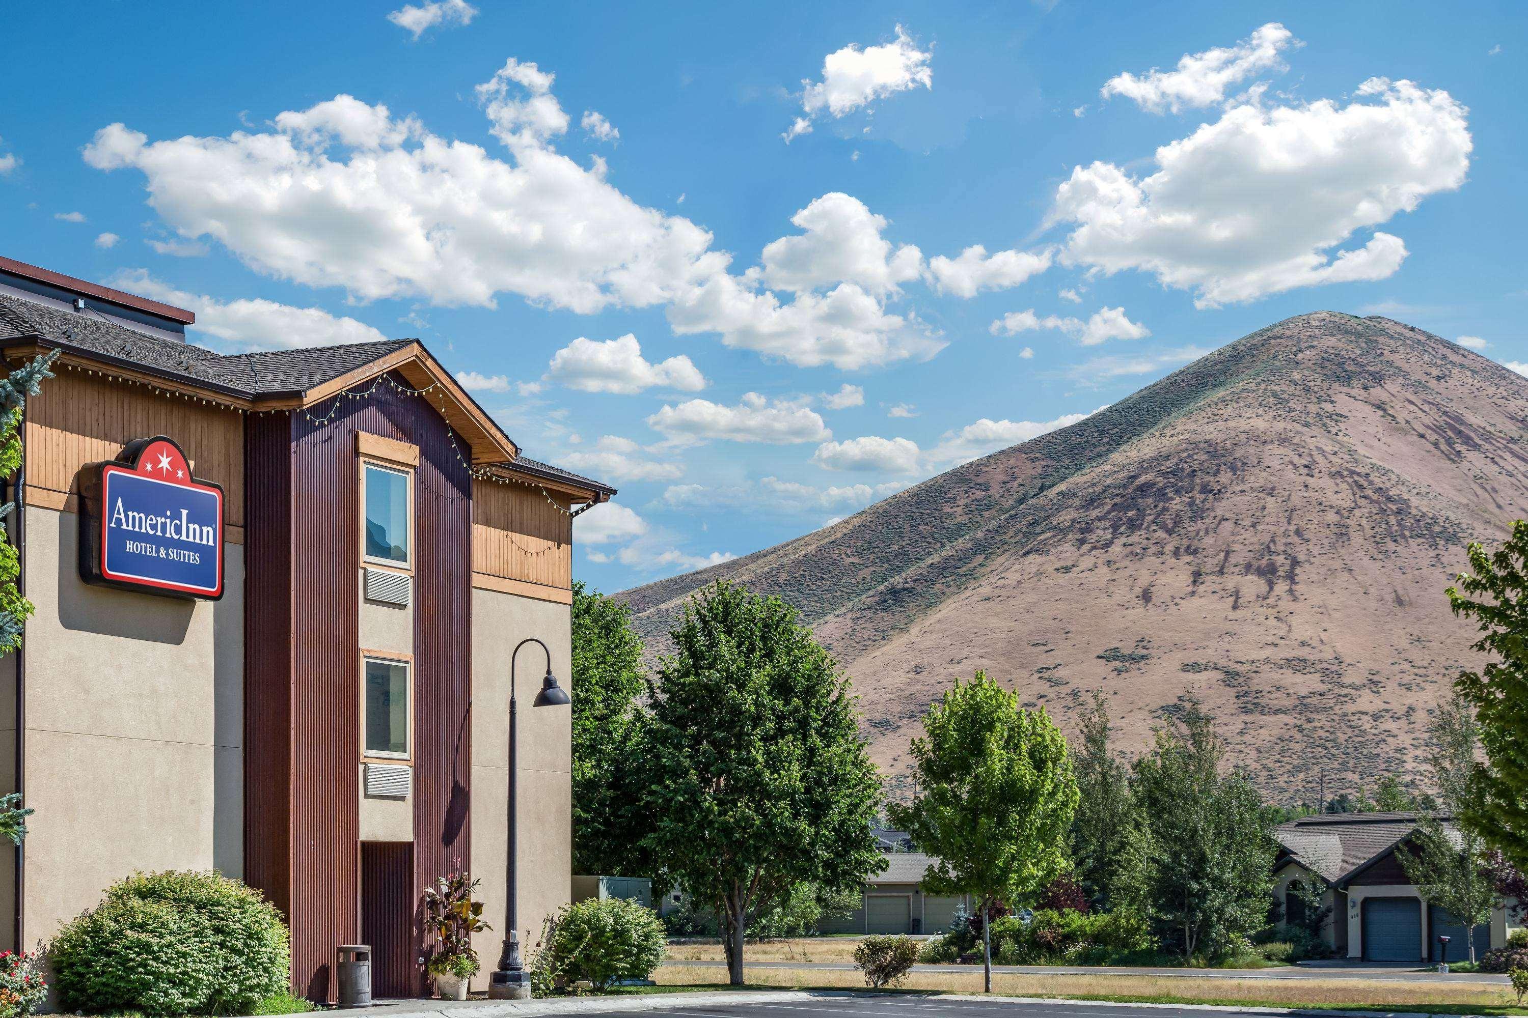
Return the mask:
<svg viewBox="0 0 1528 1018">
<path fill-rule="evenodd" d="M 219 350 L 419 336 L 529 455 L 620 488 L 575 551 L 613 591 L 1291 314 L 1528 362 L 1525 27 L 1519 3 L 26 5 L 0 253 L 185 304 Z"/>
</svg>

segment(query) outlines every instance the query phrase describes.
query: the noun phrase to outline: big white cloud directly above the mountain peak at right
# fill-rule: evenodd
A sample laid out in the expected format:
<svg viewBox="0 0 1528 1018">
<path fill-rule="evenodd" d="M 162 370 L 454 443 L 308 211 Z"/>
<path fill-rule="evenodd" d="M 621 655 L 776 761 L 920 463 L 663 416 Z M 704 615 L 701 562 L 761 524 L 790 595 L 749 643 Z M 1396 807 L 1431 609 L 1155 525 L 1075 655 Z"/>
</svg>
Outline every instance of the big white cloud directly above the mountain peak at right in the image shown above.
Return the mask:
<svg viewBox="0 0 1528 1018">
<path fill-rule="evenodd" d="M 1383 279 L 1406 258 L 1401 238 L 1374 230 L 1334 249 L 1464 183 L 1467 113 L 1447 92 L 1384 78 L 1348 105 L 1238 105 L 1158 148 L 1146 177 L 1074 168 L 1051 212 L 1076 224 L 1062 261 L 1149 272 L 1198 307 Z"/>
</svg>

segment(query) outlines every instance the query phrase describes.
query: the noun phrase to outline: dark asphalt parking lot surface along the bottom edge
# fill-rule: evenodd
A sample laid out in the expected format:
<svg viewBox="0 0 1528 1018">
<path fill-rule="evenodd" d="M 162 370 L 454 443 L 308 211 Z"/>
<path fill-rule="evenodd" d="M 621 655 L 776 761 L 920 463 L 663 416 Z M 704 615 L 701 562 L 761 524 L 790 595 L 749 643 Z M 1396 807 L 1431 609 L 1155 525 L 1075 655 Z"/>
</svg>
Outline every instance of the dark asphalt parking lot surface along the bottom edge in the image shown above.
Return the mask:
<svg viewBox="0 0 1528 1018">
<path fill-rule="evenodd" d="M 619 1015 L 631 1012 L 597 1012 L 588 1010 L 584 1015 Z M 735 1004 L 711 1004 L 686 1007 L 675 1004 L 659 1010 L 643 1012 L 646 1015 L 672 1015 L 674 1018 L 811 1018 L 817 1015 L 827 1018 L 941 1018 L 953 1015 L 957 1018 L 1169 1018 L 1170 1015 L 1193 1015 L 1193 1018 L 1247 1018 L 1247 1012 L 1239 1010 L 1209 1010 L 1203 1007 L 1132 1007 L 1129 1004 L 1083 1004 L 1073 1001 L 1030 1003 L 1012 1000 L 949 1000 L 943 997 L 918 995 L 888 995 L 888 997 L 822 997 L 817 1000 L 796 1000 L 788 1004 L 781 1003 L 749 1003 L 740 1000 Z"/>
</svg>

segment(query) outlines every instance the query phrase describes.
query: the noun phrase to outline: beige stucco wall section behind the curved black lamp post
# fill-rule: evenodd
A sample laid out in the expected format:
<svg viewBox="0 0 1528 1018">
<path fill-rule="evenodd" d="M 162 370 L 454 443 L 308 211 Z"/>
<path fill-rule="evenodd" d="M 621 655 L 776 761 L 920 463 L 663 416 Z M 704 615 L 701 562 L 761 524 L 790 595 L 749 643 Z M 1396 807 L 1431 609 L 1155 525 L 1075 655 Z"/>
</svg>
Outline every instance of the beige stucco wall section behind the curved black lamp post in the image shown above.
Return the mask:
<svg viewBox="0 0 1528 1018">
<path fill-rule="evenodd" d="M 515 594 L 472 591 L 472 876 L 483 881 L 494 926 L 474 939 L 483 960 L 475 989 L 487 986 L 504 939 L 504 856 L 509 794 L 509 655 L 535 636 L 552 650 L 552 673 L 568 687 L 570 612 Z M 565 905 L 573 862 L 573 730 L 568 707 L 532 707 L 547 661 L 535 644 L 520 652 L 520 937 L 535 948 L 544 917 Z"/>
</svg>

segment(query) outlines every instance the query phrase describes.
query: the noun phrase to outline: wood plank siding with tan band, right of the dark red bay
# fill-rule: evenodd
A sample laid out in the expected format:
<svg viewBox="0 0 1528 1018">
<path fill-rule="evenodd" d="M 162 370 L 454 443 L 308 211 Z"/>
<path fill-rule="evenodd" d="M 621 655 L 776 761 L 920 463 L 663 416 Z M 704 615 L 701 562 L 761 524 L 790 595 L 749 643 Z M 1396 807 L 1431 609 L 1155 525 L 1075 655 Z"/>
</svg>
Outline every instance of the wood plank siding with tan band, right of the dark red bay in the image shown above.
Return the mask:
<svg viewBox="0 0 1528 1018">
<path fill-rule="evenodd" d="M 541 487 L 472 482 L 472 571 L 567 591 L 573 586 L 573 520 Z M 568 508 L 562 495 L 556 505 Z"/>
</svg>

